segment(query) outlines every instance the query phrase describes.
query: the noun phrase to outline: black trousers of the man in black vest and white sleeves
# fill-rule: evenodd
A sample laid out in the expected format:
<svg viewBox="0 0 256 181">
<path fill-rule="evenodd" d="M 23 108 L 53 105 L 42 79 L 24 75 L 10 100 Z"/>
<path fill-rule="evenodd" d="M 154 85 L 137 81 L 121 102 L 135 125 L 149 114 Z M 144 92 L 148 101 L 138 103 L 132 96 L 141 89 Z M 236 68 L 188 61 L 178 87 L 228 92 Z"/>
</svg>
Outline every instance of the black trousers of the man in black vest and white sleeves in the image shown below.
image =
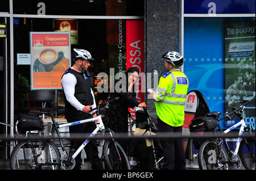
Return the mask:
<svg viewBox="0 0 256 181">
<path fill-rule="evenodd" d="M 84 119 L 92 118 L 92 115 L 89 115 L 88 113 L 83 113 L 81 111 L 65 111 L 65 118 L 67 119 L 68 123 L 71 123 L 73 121 L 79 121 Z M 94 121 L 89 123 L 82 123 L 77 125 L 72 125 L 69 127 L 69 134 L 72 137 L 72 134 L 77 133 L 92 133 L 94 129 L 96 128 L 96 124 Z M 71 148 L 75 149 L 75 151 L 81 146 L 81 144 L 85 141 L 84 139 L 79 140 L 71 140 Z M 84 148 L 86 157 L 88 161 L 92 164 L 93 170 L 102 170 L 103 165 L 101 162 L 101 159 L 98 157 L 98 146 L 97 146 L 97 140 L 92 139 L 88 142 L 88 144 Z M 76 166 L 75 170 L 81 169 L 81 152 L 77 155 L 75 158 Z"/>
</svg>

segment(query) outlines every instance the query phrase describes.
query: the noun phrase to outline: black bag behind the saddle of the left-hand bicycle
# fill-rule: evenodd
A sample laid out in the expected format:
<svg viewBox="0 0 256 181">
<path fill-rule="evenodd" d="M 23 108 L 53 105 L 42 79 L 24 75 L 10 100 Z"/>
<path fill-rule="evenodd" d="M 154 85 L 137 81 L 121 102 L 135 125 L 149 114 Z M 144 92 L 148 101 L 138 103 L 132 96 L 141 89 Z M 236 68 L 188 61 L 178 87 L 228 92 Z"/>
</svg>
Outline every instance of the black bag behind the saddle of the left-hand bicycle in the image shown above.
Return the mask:
<svg viewBox="0 0 256 181">
<path fill-rule="evenodd" d="M 38 116 L 31 113 L 19 114 L 18 131 L 42 131 L 44 122 Z"/>
</svg>

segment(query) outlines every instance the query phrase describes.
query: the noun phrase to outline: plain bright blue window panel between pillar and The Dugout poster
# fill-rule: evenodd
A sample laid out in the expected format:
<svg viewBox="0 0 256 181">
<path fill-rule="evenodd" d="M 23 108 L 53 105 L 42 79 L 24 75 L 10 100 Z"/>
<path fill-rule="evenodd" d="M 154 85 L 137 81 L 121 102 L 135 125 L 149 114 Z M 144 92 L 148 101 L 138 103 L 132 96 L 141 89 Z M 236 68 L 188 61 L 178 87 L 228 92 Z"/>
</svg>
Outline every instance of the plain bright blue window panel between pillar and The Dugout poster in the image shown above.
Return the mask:
<svg viewBox="0 0 256 181">
<path fill-rule="evenodd" d="M 222 19 L 184 19 L 184 73 L 189 90 L 198 90 L 209 110 L 225 113 Z"/>
</svg>

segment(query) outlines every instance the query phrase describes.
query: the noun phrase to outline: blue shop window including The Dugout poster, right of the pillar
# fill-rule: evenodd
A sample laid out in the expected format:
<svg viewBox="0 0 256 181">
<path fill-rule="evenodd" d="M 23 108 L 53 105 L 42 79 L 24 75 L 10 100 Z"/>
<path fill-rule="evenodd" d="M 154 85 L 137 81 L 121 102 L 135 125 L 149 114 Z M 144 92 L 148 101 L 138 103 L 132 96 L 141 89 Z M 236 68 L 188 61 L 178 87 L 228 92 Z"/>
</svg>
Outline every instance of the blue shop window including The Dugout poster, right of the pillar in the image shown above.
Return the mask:
<svg viewBox="0 0 256 181">
<path fill-rule="evenodd" d="M 189 90 L 201 91 L 210 111 L 229 110 L 226 94 L 234 74 L 243 74 L 244 99 L 251 99 L 249 110 L 255 111 L 255 18 L 185 18 L 184 56 Z"/>
</svg>

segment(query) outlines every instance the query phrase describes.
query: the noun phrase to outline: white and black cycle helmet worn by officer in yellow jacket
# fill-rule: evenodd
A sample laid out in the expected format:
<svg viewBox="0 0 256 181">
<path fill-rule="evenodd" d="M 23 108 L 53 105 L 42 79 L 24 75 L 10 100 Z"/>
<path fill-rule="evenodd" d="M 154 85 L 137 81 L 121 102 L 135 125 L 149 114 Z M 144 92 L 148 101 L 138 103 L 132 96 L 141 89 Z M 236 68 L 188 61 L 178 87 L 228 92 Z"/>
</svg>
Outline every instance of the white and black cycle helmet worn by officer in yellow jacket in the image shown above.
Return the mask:
<svg viewBox="0 0 256 181">
<path fill-rule="evenodd" d="M 164 53 L 162 58 L 164 58 L 164 60 L 166 60 L 166 62 L 174 65 L 174 67 L 176 67 L 176 68 L 183 65 L 183 56 L 182 56 L 182 54 L 180 54 L 178 52 Z"/>
</svg>

